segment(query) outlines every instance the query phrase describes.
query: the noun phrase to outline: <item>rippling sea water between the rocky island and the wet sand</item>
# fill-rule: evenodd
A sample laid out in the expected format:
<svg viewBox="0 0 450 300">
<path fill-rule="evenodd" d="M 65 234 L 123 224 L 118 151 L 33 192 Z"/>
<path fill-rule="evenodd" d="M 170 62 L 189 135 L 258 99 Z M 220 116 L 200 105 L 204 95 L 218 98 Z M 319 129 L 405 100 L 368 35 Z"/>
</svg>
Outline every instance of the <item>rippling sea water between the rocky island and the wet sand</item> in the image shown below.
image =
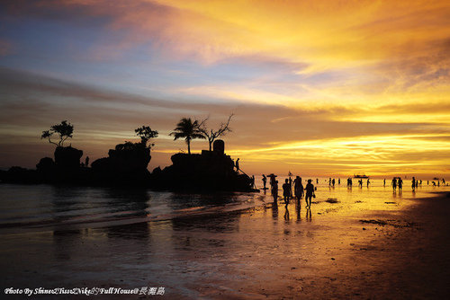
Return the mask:
<svg viewBox="0 0 450 300">
<path fill-rule="evenodd" d="M 279 205 L 284 205 L 284 179 L 278 179 L 280 191 L 276 202 Z M 262 188 L 260 178 L 256 183 L 258 188 Z M 364 180 L 362 187 L 358 187 L 355 179 L 353 183 L 353 187 L 348 188 L 347 179 L 341 179 L 340 184 L 336 180 L 333 187 L 329 185 L 329 179 L 314 178 L 317 190 L 312 209 L 315 215 L 338 210 L 398 209 L 407 199 L 431 197 L 433 192 L 450 190 L 442 183 L 435 187 L 431 181 L 423 181 L 415 191 L 407 180 L 401 191 L 392 190 L 390 182 L 386 181 L 384 185 L 383 180 L 371 180 L 369 186 Z M 306 185 L 305 180 L 303 185 Z M 302 202 L 303 199 L 301 206 Z M 0 184 L 0 229 L 51 230 L 61 226 L 123 225 L 183 216 L 213 216 L 273 203 L 269 190 L 196 194 L 141 188 Z M 294 201 L 290 203 L 294 204 Z"/>
</svg>

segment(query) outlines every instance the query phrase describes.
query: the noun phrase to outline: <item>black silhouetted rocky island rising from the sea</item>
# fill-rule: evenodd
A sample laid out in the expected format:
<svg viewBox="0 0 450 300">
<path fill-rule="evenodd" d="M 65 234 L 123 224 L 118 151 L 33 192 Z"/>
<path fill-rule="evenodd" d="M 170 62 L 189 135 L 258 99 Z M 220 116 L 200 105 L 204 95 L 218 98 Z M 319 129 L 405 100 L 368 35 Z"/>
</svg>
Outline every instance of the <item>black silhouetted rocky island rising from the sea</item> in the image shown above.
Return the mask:
<svg viewBox="0 0 450 300">
<path fill-rule="evenodd" d="M 54 159 L 40 159 L 35 170 L 14 166 L 7 172 L 2 171 L 1 182 L 141 186 L 152 190 L 253 191 L 254 182 L 247 174 L 235 171 L 235 164 L 225 154 L 225 143 L 221 139 L 210 140 L 210 150 L 203 150 L 202 154 L 191 154 L 190 151 L 188 154 L 174 154 L 171 157 L 172 165 L 148 172 L 150 148 L 153 146 L 148 145 L 148 141 L 157 137 L 157 131 L 145 126 L 137 128 L 135 132 L 141 138 L 140 142 L 119 144 L 109 150 L 108 157 L 97 159 L 89 166 L 88 157 L 85 162 L 81 162 L 82 150 L 63 146 L 67 137 L 71 137 L 73 126 L 62 121 L 52 129 L 60 137 L 58 143 L 49 139 L 50 143 L 57 146 Z M 52 132 L 44 131 L 42 138 L 51 135 Z"/>
</svg>

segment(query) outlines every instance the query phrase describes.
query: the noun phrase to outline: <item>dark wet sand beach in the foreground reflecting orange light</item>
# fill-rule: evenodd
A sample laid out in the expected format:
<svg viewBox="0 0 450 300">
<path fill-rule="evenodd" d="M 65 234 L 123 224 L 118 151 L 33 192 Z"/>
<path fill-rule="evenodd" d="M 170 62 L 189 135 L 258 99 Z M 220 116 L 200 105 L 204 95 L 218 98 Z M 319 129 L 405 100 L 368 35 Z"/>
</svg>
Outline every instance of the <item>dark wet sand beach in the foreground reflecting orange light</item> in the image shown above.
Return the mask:
<svg viewBox="0 0 450 300">
<path fill-rule="evenodd" d="M 291 204 L 288 215 L 284 205 L 268 204 L 213 217 L 2 234 L 1 286 L 165 290 L 94 299 L 448 299 L 445 196 L 386 202 L 389 210 L 330 205 L 318 213 L 313 204 L 310 215 Z"/>
</svg>

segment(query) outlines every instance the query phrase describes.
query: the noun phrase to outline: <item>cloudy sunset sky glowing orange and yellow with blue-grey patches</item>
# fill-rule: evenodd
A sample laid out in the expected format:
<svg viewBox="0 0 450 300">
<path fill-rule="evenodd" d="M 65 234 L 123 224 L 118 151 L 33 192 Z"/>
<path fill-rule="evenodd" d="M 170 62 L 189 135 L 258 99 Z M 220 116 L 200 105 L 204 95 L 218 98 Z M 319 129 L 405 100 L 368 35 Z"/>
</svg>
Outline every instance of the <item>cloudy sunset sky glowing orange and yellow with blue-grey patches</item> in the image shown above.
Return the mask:
<svg viewBox="0 0 450 300">
<path fill-rule="evenodd" d="M 151 171 L 187 151 L 179 119 L 231 113 L 249 174 L 448 177 L 450 2 L 0 4 L 0 167 L 52 156 L 41 132 L 67 119 L 91 162 L 157 130 Z"/>
</svg>

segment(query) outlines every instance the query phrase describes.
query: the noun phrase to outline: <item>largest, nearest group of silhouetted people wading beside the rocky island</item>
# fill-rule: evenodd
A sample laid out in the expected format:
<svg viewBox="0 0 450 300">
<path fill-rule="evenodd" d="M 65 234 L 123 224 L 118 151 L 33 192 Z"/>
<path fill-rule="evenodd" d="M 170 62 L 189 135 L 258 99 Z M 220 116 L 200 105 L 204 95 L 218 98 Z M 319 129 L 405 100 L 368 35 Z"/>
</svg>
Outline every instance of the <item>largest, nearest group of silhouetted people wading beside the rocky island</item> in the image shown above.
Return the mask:
<svg viewBox="0 0 450 300">
<path fill-rule="evenodd" d="M 270 190 L 272 193 L 272 197 L 274 197 L 274 202 L 276 203 L 278 200 L 278 181 L 276 180 L 276 175 L 270 174 L 267 175 L 267 177 L 269 177 L 270 179 Z M 263 174 L 264 190 L 267 190 L 267 177 Z M 304 196 L 306 201 L 306 208 L 311 208 L 311 199 L 316 198 L 316 189 L 311 182 L 311 179 L 308 180 L 306 187 L 303 187 L 302 178 L 300 176 L 296 176 L 294 180 L 292 180 L 291 177 L 286 178 L 282 186 L 284 204 L 287 206 L 289 204 L 289 200 L 293 199 L 293 197 L 295 197 L 295 199 L 297 199 L 297 202 L 300 204 L 300 199 L 302 199 L 302 197 Z"/>
</svg>

